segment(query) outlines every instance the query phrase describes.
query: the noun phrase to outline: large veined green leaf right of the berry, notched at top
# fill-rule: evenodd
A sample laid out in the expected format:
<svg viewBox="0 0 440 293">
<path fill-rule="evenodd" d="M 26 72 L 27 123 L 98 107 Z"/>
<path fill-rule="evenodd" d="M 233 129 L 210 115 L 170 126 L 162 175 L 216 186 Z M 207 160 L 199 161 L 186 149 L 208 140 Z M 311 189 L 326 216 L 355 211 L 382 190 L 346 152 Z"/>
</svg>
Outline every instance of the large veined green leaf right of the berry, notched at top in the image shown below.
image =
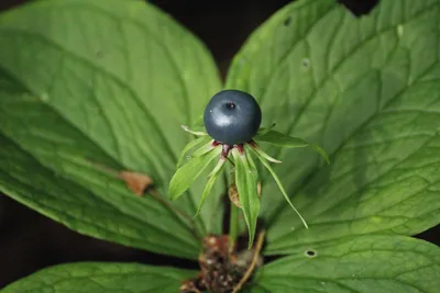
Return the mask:
<svg viewBox="0 0 440 293">
<path fill-rule="evenodd" d="M 263 125 L 316 143 L 262 148 L 293 203 L 263 173 L 266 253 L 353 234 L 411 235 L 440 222 L 440 1 L 382 0 L 354 18 L 333 0 L 287 5 L 234 58 L 228 87 L 252 93 Z M 267 195 L 266 195 L 267 194 Z"/>
</svg>

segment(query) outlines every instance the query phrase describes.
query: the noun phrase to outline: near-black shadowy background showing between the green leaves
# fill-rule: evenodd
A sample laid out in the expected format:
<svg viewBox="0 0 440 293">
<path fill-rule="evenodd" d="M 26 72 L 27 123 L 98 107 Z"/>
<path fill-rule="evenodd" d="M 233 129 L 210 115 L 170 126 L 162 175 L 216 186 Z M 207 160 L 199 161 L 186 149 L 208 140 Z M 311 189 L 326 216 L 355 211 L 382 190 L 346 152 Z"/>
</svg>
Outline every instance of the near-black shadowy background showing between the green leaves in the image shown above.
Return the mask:
<svg viewBox="0 0 440 293">
<path fill-rule="evenodd" d="M 0 10 L 24 3 L 0 0 Z M 156 0 L 210 48 L 224 77 L 231 58 L 249 34 L 288 0 Z M 377 0 L 340 0 L 354 14 L 367 13 Z M 228 40 L 228 42 L 223 42 Z M 440 244 L 440 227 L 418 237 Z M 74 261 L 138 261 L 197 268 L 142 250 L 81 236 L 0 194 L 0 289 L 41 268 Z"/>
</svg>

